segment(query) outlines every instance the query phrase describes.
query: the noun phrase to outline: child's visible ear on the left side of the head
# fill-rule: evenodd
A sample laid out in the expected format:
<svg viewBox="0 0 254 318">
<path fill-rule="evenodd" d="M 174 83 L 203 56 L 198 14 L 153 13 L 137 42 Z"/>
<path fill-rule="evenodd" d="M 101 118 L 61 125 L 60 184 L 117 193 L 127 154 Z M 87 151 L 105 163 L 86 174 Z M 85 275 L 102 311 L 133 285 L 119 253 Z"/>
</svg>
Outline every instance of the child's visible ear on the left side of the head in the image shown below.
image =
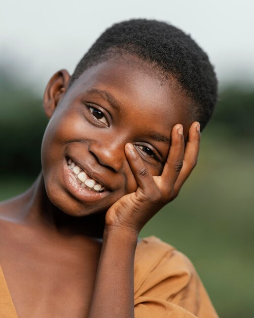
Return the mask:
<svg viewBox="0 0 254 318">
<path fill-rule="evenodd" d="M 43 98 L 43 107 L 48 118 L 51 118 L 57 104 L 63 98 L 69 79 L 70 75 L 66 70 L 60 70 L 51 77 Z"/>
</svg>

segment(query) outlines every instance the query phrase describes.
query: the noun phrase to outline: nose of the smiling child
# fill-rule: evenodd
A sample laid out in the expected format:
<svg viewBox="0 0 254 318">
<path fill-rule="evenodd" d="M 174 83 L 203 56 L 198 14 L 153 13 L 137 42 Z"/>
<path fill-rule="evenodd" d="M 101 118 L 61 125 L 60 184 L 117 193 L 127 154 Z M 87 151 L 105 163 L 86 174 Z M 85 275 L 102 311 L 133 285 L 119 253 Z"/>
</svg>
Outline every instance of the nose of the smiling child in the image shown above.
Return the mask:
<svg viewBox="0 0 254 318">
<path fill-rule="evenodd" d="M 100 165 L 119 172 L 123 167 L 125 158 L 124 145 L 121 143 L 92 142 L 89 146 L 90 153 Z"/>
</svg>

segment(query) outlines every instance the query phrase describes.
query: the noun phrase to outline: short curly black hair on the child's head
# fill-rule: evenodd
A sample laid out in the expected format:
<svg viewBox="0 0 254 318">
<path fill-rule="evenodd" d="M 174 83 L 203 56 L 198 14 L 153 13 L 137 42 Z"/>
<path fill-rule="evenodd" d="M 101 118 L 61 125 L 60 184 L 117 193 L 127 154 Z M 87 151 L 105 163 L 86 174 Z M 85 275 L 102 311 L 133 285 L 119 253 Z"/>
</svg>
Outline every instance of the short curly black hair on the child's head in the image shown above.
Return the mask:
<svg viewBox="0 0 254 318">
<path fill-rule="evenodd" d="M 165 76 L 173 76 L 191 98 L 190 113 L 201 130 L 217 101 L 217 79 L 207 54 L 182 30 L 166 22 L 132 19 L 106 29 L 78 63 L 70 85 L 88 68 L 114 58 L 119 52 L 134 54 Z"/>
</svg>

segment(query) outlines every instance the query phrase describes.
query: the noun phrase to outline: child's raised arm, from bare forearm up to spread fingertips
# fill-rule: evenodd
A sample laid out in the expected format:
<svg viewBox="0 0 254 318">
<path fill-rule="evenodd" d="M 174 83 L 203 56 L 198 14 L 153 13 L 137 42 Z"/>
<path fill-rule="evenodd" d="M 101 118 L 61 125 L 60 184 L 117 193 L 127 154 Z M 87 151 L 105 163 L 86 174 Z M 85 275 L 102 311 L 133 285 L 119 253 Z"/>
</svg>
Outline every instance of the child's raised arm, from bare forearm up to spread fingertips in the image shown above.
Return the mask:
<svg viewBox="0 0 254 318">
<path fill-rule="evenodd" d="M 138 233 L 147 221 L 178 194 L 197 162 L 200 133 L 194 122 L 184 150 L 179 124 L 172 130 L 172 143 L 162 175 L 153 177 L 137 151 L 127 144 L 126 157 L 137 180 L 135 193 L 108 209 L 102 251 L 88 318 L 134 317 L 134 253 Z M 130 146 L 130 147 L 129 147 Z M 179 166 L 183 167 L 179 169 Z"/>
</svg>

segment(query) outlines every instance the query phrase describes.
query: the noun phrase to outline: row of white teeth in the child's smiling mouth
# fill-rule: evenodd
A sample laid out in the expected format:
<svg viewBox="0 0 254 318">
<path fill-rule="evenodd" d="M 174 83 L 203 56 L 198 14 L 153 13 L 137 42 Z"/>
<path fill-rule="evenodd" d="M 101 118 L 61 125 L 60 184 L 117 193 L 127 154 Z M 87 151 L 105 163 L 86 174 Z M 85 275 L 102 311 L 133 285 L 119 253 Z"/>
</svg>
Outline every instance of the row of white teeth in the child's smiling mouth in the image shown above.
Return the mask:
<svg viewBox="0 0 254 318">
<path fill-rule="evenodd" d="M 105 187 L 98 181 L 90 177 L 82 168 L 70 158 L 67 159 L 68 169 L 72 172 L 81 188 L 86 188 L 94 192 L 104 192 Z"/>
</svg>

